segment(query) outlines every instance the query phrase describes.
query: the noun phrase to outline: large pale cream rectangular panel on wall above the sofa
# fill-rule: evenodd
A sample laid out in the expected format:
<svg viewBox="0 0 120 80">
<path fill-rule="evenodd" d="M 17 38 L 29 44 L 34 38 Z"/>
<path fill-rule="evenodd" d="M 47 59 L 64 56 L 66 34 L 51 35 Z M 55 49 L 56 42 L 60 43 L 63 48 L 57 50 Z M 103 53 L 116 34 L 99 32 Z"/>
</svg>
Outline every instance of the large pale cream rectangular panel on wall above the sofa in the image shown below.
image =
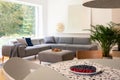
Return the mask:
<svg viewBox="0 0 120 80">
<path fill-rule="evenodd" d="M 90 9 L 82 5 L 68 6 L 68 25 L 66 31 L 68 33 L 85 33 L 84 29 L 90 29 Z"/>
</svg>

